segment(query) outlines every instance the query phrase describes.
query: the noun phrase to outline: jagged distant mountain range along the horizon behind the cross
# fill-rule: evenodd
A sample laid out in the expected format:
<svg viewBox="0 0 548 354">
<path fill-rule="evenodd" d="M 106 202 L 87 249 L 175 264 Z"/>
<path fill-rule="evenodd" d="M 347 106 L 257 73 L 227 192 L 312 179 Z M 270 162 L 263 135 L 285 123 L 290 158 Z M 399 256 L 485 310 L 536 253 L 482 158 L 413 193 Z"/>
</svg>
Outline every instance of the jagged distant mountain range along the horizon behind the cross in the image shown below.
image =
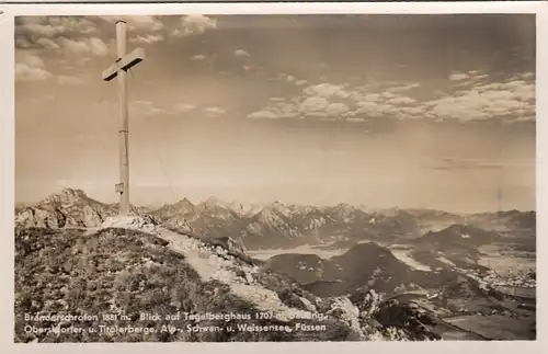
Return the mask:
<svg viewBox="0 0 548 354">
<path fill-rule="evenodd" d="M 167 227 L 204 237 L 231 237 L 250 250 L 293 248 L 362 240 L 397 242 L 418 239 L 429 230 L 454 224 L 489 226 L 491 229 L 534 230 L 535 212 L 502 212 L 463 216 L 429 209 L 367 210 L 349 204 L 335 206 L 244 206 L 209 198 L 193 204 L 187 198 L 157 209 L 132 206 L 137 215 L 157 219 Z M 116 204 L 90 198 L 81 190 L 67 189 L 34 206 L 16 209 L 15 224 L 27 227 L 96 227 L 117 213 Z M 434 238 L 435 235 L 424 236 Z"/>
</svg>

